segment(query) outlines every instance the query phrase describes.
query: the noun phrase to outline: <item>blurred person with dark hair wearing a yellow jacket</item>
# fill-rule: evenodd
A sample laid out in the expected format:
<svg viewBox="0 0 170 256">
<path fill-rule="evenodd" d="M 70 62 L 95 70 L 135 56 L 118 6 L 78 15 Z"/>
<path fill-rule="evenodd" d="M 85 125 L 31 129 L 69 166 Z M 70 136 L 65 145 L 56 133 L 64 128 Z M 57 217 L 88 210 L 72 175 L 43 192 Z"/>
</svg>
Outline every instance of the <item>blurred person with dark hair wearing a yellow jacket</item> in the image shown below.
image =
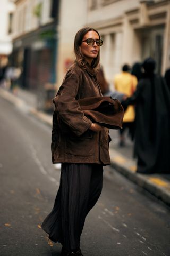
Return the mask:
<svg viewBox="0 0 170 256">
<path fill-rule="evenodd" d="M 130 74 L 130 66 L 125 64 L 122 67 L 122 72 L 115 76 L 114 78 L 114 87 L 118 92 L 124 93 L 127 97 L 131 95 L 136 90 L 138 84 L 137 77 Z M 129 105 L 125 110 L 123 118 L 123 126 L 120 130 L 120 146 L 125 145 L 124 131 L 126 128 L 132 130 L 133 122 L 135 118 L 134 106 Z"/>
</svg>

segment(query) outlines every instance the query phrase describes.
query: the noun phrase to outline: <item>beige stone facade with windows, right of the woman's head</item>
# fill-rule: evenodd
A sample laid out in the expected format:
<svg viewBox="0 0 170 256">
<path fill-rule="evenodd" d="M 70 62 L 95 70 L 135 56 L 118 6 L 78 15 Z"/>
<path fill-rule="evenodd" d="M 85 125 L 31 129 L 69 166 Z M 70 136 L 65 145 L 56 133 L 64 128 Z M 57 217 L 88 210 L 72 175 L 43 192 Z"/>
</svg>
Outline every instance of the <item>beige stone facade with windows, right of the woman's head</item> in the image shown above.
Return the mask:
<svg viewBox="0 0 170 256">
<path fill-rule="evenodd" d="M 169 0 L 88 0 L 87 13 L 87 25 L 104 40 L 100 62 L 108 81 L 124 63 L 148 56 L 156 60 L 158 73 L 170 67 Z"/>
</svg>

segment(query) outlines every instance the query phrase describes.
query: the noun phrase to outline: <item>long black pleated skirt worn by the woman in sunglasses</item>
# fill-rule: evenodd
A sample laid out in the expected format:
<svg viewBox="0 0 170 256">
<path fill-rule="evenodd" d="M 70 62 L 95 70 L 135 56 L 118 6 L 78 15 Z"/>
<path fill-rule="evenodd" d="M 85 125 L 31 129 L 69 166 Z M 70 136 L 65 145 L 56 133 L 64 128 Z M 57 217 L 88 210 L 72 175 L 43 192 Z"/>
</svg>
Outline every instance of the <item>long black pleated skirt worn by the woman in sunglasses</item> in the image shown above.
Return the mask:
<svg viewBox="0 0 170 256">
<path fill-rule="evenodd" d="M 69 251 L 80 247 L 85 218 L 96 204 L 102 185 L 102 165 L 62 164 L 53 210 L 41 225 L 53 242 L 61 243 Z"/>
</svg>

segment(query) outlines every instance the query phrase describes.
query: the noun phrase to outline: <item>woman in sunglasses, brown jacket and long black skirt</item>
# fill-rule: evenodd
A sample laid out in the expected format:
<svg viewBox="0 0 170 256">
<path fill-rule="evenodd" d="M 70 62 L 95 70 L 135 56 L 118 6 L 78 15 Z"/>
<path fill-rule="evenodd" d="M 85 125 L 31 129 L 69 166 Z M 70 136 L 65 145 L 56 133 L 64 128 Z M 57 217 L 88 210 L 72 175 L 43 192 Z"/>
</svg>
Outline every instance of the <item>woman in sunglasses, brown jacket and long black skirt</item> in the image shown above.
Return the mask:
<svg viewBox="0 0 170 256">
<path fill-rule="evenodd" d="M 52 160 L 62 163 L 61 182 L 54 208 L 42 228 L 52 241 L 62 243 L 61 255 L 82 255 L 84 221 L 101 194 L 103 165 L 110 164 L 108 129 L 84 116 L 78 102 L 102 95 L 96 80 L 102 44 L 95 29 L 78 31 L 75 63 L 54 99 Z"/>
</svg>

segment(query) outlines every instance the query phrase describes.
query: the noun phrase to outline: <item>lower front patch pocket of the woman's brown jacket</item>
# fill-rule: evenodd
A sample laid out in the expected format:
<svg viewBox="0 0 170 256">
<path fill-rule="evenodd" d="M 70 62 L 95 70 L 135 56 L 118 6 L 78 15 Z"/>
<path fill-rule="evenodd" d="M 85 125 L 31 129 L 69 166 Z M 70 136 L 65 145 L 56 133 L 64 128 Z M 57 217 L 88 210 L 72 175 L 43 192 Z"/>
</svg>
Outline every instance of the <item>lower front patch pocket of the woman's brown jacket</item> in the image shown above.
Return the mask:
<svg viewBox="0 0 170 256">
<path fill-rule="evenodd" d="M 66 140 L 66 153 L 74 156 L 91 156 L 95 154 L 95 138 L 90 130 L 80 137 L 70 136 Z"/>
</svg>

